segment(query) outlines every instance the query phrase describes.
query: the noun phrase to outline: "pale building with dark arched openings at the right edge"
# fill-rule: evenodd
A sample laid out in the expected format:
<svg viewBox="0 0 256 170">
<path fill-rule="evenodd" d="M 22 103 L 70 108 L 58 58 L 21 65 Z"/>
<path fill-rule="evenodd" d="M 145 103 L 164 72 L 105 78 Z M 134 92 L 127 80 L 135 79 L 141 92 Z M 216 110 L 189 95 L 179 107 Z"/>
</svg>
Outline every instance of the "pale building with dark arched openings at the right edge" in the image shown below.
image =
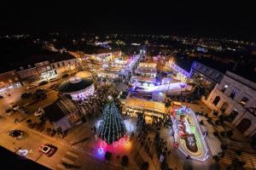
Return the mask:
<svg viewBox="0 0 256 170">
<path fill-rule="evenodd" d="M 206 100 L 207 106 L 224 116 L 246 136 L 256 135 L 256 83 L 227 71 Z"/>
</svg>

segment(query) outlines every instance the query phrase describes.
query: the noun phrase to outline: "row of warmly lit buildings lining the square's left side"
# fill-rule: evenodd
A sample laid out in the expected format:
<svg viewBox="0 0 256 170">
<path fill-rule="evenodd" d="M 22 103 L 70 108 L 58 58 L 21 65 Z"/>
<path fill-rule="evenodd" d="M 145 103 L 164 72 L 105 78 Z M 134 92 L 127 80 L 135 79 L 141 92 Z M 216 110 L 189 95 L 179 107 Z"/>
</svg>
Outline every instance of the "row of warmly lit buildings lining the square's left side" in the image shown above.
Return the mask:
<svg viewBox="0 0 256 170">
<path fill-rule="evenodd" d="M 108 53 L 107 53 L 108 52 Z M 49 54 L 33 56 L 34 60 L 28 58 L 24 62 L 15 63 L 15 66 L 10 67 L 9 71 L 0 73 L 0 94 L 8 93 L 13 88 L 19 88 L 32 82 L 40 80 L 48 80 L 56 77 L 67 71 L 73 71 L 79 66 L 80 58 L 97 59 L 99 62 L 111 57 L 120 56 L 120 50 L 102 49 L 98 50 L 97 54 L 84 54 L 77 52 L 57 51 Z M 97 56 L 94 58 L 93 56 Z"/>
</svg>

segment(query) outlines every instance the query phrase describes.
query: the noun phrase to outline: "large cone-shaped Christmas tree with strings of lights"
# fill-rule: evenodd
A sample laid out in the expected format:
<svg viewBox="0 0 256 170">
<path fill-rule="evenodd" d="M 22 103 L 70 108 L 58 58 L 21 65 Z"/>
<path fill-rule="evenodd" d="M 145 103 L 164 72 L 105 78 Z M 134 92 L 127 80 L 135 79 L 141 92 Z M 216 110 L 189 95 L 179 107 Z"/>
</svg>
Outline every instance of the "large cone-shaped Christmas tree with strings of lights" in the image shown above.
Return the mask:
<svg viewBox="0 0 256 170">
<path fill-rule="evenodd" d="M 114 104 L 112 98 L 109 98 L 109 100 L 103 110 L 98 136 L 100 139 L 106 141 L 107 144 L 113 144 L 114 141 L 118 141 L 124 137 L 126 129 L 119 109 Z"/>
</svg>

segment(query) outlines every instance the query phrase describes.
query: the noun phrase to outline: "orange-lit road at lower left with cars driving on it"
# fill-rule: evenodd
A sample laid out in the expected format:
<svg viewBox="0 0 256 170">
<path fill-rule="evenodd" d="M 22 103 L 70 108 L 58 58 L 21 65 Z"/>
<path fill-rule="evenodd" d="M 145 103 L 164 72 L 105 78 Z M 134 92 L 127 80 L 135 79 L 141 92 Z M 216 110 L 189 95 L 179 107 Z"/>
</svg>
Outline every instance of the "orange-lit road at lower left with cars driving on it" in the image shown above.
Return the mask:
<svg viewBox="0 0 256 170">
<path fill-rule="evenodd" d="M 60 82 L 62 81 L 63 79 Z M 51 82 L 38 88 L 47 89 L 53 83 L 57 82 Z M 17 88 L 10 92 L 11 96 L 4 96 L 4 99 L 0 100 L 0 125 L 2 127 L 0 130 L 0 145 L 13 152 L 17 152 L 19 148 L 21 148 L 21 150 L 28 150 L 26 158 L 31 159 L 32 161 L 37 161 L 38 163 L 51 169 L 66 169 L 61 165 L 62 161 L 72 163 L 78 167 L 81 167 L 81 169 L 88 170 L 120 169 L 119 165 L 112 165 L 109 163 L 105 163 L 104 161 L 97 160 L 92 153 L 81 150 L 80 148 L 77 148 L 75 146 L 71 146 L 71 144 L 68 144 L 63 139 L 49 137 L 45 133 L 40 133 L 34 129 L 28 128 L 26 126 L 26 122 L 20 122 L 15 124 L 14 119 L 17 117 L 20 118 L 21 113 L 17 112 L 11 116 L 8 116 L 5 113 L 5 109 L 8 108 L 9 103 L 17 102 L 18 100 L 20 100 L 20 94 L 27 91 L 34 92 L 36 91 L 36 89 L 37 88 L 26 90 L 26 87 Z M 38 105 L 49 105 L 55 100 L 55 94 L 55 92 L 49 92 L 48 99 L 40 101 L 33 107 L 36 109 Z M 24 115 L 23 117 L 37 118 L 33 116 L 33 114 L 29 116 Z M 20 129 L 26 132 L 26 138 L 22 140 L 17 140 L 10 137 L 8 135 L 8 132 L 11 129 Z M 45 156 L 44 154 L 38 152 L 38 147 L 41 144 L 53 144 L 58 148 L 58 150 L 55 152 L 54 156 Z"/>
</svg>

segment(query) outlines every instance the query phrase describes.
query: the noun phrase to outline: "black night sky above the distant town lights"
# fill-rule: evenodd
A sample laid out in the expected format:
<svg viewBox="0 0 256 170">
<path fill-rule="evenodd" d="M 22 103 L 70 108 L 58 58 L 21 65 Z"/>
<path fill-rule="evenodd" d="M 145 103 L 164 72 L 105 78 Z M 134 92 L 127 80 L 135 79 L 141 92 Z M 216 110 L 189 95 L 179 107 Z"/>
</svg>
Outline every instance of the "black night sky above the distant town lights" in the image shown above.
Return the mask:
<svg viewBox="0 0 256 170">
<path fill-rule="evenodd" d="M 42 2 L 42 3 L 40 3 Z M 91 3 L 93 2 L 93 3 Z M 2 3 L 0 33 L 155 33 L 256 40 L 256 1 Z M 140 2 L 140 3 L 138 3 Z M 164 3 L 169 2 L 169 3 Z"/>
</svg>

